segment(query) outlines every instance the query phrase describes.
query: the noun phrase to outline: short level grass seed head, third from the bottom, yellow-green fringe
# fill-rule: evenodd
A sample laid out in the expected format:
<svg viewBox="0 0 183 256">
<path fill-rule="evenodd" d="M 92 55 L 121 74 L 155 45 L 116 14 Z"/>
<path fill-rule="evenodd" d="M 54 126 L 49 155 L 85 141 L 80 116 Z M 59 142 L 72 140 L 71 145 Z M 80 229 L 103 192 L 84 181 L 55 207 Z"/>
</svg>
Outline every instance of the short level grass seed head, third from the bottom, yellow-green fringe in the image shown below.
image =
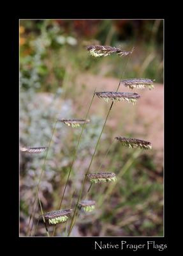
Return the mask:
<svg viewBox="0 0 183 256">
<path fill-rule="evenodd" d="M 115 181 L 115 173 L 113 172 L 103 172 L 103 173 L 90 173 L 87 174 L 91 183 L 98 183 L 98 182 L 110 182 Z"/>
</svg>

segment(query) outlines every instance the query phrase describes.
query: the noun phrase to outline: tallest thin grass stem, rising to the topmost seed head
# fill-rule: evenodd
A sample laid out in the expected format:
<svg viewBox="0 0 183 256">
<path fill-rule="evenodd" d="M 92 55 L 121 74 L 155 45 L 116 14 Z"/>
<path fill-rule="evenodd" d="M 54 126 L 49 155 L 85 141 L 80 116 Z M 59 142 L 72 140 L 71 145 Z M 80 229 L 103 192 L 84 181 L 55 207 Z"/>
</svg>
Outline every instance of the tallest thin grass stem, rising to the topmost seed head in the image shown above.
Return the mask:
<svg viewBox="0 0 183 256">
<path fill-rule="evenodd" d="M 128 60 L 129 60 L 129 57 L 128 57 Z M 126 65 L 127 65 L 127 63 L 128 63 L 128 60 L 126 61 Z M 124 70 L 126 69 L 126 65 L 125 65 L 125 67 L 124 67 Z M 124 70 L 123 70 L 123 72 L 122 72 L 121 79 L 122 79 L 122 77 L 124 76 Z M 117 86 L 116 92 L 119 90 L 119 86 L 120 86 L 120 84 L 121 84 L 121 79 L 120 79 L 119 84 L 118 84 L 118 86 Z M 89 170 L 90 170 L 90 168 L 91 168 L 92 160 L 93 160 L 94 155 L 95 155 L 95 153 L 96 153 L 96 150 L 97 150 L 97 148 L 98 148 L 99 140 L 100 140 L 100 138 L 101 138 L 101 135 L 103 134 L 103 130 L 104 130 L 104 128 L 105 128 L 105 124 L 106 124 L 106 121 L 107 121 L 108 116 L 109 116 L 109 114 L 110 114 L 110 111 L 111 111 L 111 109 L 112 109 L 112 106 L 113 106 L 113 102 L 112 102 L 112 104 L 111 104 L 111 106 L 110 106 L 110 109 L 108 110 L 107 115 L 106 115 L 105 122 L 104 122 L 104 124 L 103 124 L 103 128 L 102 128 L 102 130 L 101 130 L 101 133 L 99 134 L 99 138 L 98 138 L 98 141 L 97 141 L 97 143 L 96 143 L 96 147 L 95 147 L 95 149 L 94 149 L 94 153 L 92 154 L 92 158 L 91 158 L 91 162 L 90 162 L 90 164 L 89 164 L 89 168 L 87 169 L 87 172 L 85 173 L 85 178 L 84 178 L 84 180 L 83 180 L 83 182 L 82 182 L 82 187 L 81 187 L 81 189 L 80 189 L 80 193 L 79 193 L 79 196 L 78 196 L 77 204 L 76 204 L 76 206 L 75 206 L 75 211 L 74 211 L 74 214 L 73 214 L 73 217 L 72 217 L 72 220 L 71 220 L 71 225 L 70 225 L 70 230 L 69 230 L 69 232 L 68 232 L 68 236 L 70 236 L 70 234 L 71 234 L 71 230 L 72 230 L 73 225 L 74 225 L 75 214 L 76 214 L 76 212 L 77 212 L 78 203 L 79 203 L 80 198 L 81 198 L 81 196 L 82 196 L 82 191 L 83 191 L 83 189 L 84 189 L 85 180 L 87 179 L 87 173 L 89 173 Z M 75 221 L 75 222 L 76 222 L 76 221 Z"/>
</svg>

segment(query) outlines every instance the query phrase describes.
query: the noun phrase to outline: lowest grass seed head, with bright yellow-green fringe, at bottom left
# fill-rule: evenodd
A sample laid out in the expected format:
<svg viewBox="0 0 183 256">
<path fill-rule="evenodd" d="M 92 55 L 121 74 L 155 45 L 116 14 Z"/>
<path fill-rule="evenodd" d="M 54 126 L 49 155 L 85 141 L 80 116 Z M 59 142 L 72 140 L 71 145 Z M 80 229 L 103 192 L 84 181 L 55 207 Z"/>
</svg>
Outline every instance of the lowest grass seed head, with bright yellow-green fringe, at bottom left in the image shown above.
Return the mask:
<svg viewBox="0 0 183 256">
<path fill-rule="evenodd" d="M 57 223 L 62 223 L 68 220 L 68 215 L 73 211 L 73 209 L 59 210 L 47 212 L 41 216 L 44 216 L 45 220 L 48 221 L 50 225 L 56 225 Z"/>
</svg>

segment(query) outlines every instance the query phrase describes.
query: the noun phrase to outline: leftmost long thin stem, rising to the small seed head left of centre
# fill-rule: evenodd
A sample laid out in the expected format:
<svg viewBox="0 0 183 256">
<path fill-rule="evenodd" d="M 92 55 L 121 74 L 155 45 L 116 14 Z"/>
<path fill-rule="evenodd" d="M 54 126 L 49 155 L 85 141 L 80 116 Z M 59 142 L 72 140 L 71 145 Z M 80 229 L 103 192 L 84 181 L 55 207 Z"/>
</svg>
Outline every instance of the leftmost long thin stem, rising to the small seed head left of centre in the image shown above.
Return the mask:
<svg viewBox="0 0 183 256">
<path fill-rule="evenodd" d="M 54 128 L 52 129 L 52 135 L 51 135 L 51 137 L 50 137 L 50 141 L 49 141 L 49 144 L 48 144 L 47 153 L 46 153 L 46 155 L 45 155 L 45 159 L 44 159 L 44 163 L 43 163 L 43 168 L 42 168 L 42 170 L 41 170 L 41 174 L 40 174 L 40 177 L 39 177 L 39 180 L 38 180 L 38 184 L 36 185 L 36 188 L 38 188 L 37 191 L 39 191 L 39 189 L 40 189 L 41 177 L 42 177 L 42 175 L 43 175 L 43 172 L 45 171 L 46 161 L 47 161 L 47 156 L 48 156 L 48 150 L 49 150 L 49 148 L 50 148 L 50 144 L 51 144 L 51 141 L 52 141 L 52 137 L 53 137 L 53 135 L 54 135 L 54 131 L 55 131 L 56 125 L 57 125 L 57 120 L 55 121 Z M 36 214 L 36 208 L 35 208 L 35 210 L 34 210 L 34 205 L 37 204 L 37 200 L 38 200 L 38 193 L 36 192 L 36 196 L 35 196 L 35 198 L 34 198 L 34 202 L 33 202 L 32 209 L 31 209 L 31 216 L 30 216 L 30 218 L 29 218 L 29 223 L 28 223 L 28 228 L 27 228 L 27 234 L 29 234 L 30 223 L 31 223 L 31 219 L 32 219 L 32 216 L 33 216 L 33 211 L 34 211 L 34 216 L 35 216 L 35 214 Z M 34 222 L 34 216 L 33 216 L 33 222 Z M 32 226 L 32 228 L 33 228 L 33 226 Z M 31 228 L 31 230 L 32 230 L 32 228 Z M 30 234 L 31 234 L 31 233 L 30 233 Z"/>
</svg>

